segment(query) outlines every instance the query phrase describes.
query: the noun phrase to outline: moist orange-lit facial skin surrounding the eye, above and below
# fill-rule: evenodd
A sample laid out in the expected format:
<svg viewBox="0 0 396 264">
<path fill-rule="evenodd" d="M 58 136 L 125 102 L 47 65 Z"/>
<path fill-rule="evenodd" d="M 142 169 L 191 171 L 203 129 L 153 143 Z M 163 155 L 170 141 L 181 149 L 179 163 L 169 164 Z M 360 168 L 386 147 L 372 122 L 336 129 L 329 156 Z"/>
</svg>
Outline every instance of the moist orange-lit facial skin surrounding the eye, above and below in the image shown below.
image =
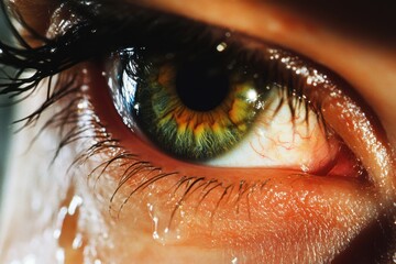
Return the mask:
<svg viewBox="0 0 396 264">
<path fill-rule="evenodd" d="M 14 2 L 28 24 L 45 35 L 51 14 L 57 8 L 55 1 Z M 154 183 L 123 204 L 131 189 L 121 188 L 112 197 L 117 179 L 124 172 L 122 166 L 111 166 L 112 169 L 106 170 L 101 177 L 94 174 L 96 180 L 89 182 L 86 177 L 112 153 L 101 153 L 92 158 L 95 161 L 88 160 L 69 172 L 69 164 L 79 151 L 85 150 L 84 145 L 72 143 L 48 168 L 54 145 L 59 141 L 55 129 L 45 130 L 32 148 L 25 152 L 32 134 L 42 128 L 38 123 L 15 135 L 11 155 L 20 156 L 24 153 L 22 161 L 26 161 L 26 166 L 21 167 L 16 161 L 10 165 L 10 187 L 4 207 L 7 216 L 1 229 L 7 232 L 1 232 L 4 235 L 0 237 L 0 252 L 8 254 L 1 255 L 0 262 L 320 263 L 336 258 L 342 263 L 343 258 L 337 258 L 340 254 L 348 257 L 348 252 L 353 255 L 364 249 L 356 245 L 356 241 L 361 240 L 360 233 L 369 233 L 369 239 L 363 238 L 364 241 L 377 238 L 378 230 L 370 229 L 373 224 L 380 222 L 391 233 L 394 232 L 395 227 L 391 226 L 394 224 L 396 186 L 393 158 L 396 147 L 396 52 L 392 48 L 392 40 L 389 43 L 386 40 L 370 41 L 369 34 L 362 36 L 351 34 L 348 30 L 341 31 L 339 24 L 326 23 L 309 15 L 309 12 L 298 12 L 298 8 L 287 2 L 133 2 L 275 43 L 340 75 L 362 98 L 364 113 L 372 110 L 382 125 L 374 121 L 375 129 L 372 132 L 373 124 L 367 124 L 365 114 L 358 114 L 358 110 L 353 111 L 356 114 L 351 119 L 361 121 L 355 122 L 360 125 L 369 125 L 367 130 L 353 133 L 356 131 L 345 128 L 341 122 L 334 121 L 333 124 L 349 145 L 356 146 L 354 151 L 370 174 L 369 184 L 294 176 L 277 169 L 205 168 L 176 162 L 147 147 L 136 134 L 129 132 L 118 118 L 111 98 L 106 92 L 97 92 L 107 89 L 106 82 L 100 77 L 98 65 L 88 62 L 70 69 L 85 72 L 80 81 L 81 86 L 87 87 L 85 94 L 89 97 L 89 108 L 81 109 L 94 110 L 112 138 L 119 140 L 122 148 L 139 154 L 142 161 L 148 161 L 166 173 L 178 170 L 185 175 L 199 174 L 222 183 L 230 182 L 230 178 L 252 182 L 268 179 L 267 189 L 252 191 L 249 199 L 241 199 L 241 211 L 238 213 L 234 205 L 216 205 L 215 201 L 223 195 L 222 189 L 211 193 L 199 207 L 198 194 L 193 194 L 183 205 L 184 216 L 176 213 L 173 230 L 167 234 L 164 233 L 167 227 L 164 219 L 167 219 L 175 206 L 174 201 L 168 201 L 167 191 L 178 183 L 178 177 Z M 128 14 L 128 0 L 119 0 L 117 4 L 124 7 L 122 13 Z M 29 114 L 43 97 L 45 92 L 22 102 L 18 116 Z M 58 106 L 66 103 L 61 101 Z M 342 103 L 345 106 L 346 102 Z M 366 110 L 366 106 L 371 110 Z M 53 116 L 51 111 L 41 118 L 42 123 Z M 332 113 L 341 114 L 341 110 L 333 109 Z M 328 118 L 331 120 L 331 114 Z M 92 120 L 89 122 L 94 123 Z M 41 160 L 37 161 L 37 157 Z M 129 186 L 134 184 L 129 183 Z M 175 193 L 175 199 L 179 198 L 179 194 Z M 392 256 L 395 252 L 389 244 L 392 235 L 391 239 L 378 237 L 378 241 L 385 241 L 382 245 Z M 381 249 L 377 251 L 381 252 Z"/>
</svg>

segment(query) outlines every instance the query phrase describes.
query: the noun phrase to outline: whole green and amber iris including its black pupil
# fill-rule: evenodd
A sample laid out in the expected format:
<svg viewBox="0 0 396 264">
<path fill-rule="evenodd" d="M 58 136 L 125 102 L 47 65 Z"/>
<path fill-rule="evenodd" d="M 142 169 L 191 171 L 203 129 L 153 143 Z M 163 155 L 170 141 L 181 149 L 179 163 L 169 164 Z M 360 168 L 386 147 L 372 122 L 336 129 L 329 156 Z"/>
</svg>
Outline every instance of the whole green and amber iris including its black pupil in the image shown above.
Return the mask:
<svg viewBox="0 0 396 264">
<path fill-rule="evenodd" d="M 143 132 L 166 152 L 202 161 L 251 131 L 268 91 L 219 59 L 151 62 L 140 72 L 134 108 Z"/>
</svg>

